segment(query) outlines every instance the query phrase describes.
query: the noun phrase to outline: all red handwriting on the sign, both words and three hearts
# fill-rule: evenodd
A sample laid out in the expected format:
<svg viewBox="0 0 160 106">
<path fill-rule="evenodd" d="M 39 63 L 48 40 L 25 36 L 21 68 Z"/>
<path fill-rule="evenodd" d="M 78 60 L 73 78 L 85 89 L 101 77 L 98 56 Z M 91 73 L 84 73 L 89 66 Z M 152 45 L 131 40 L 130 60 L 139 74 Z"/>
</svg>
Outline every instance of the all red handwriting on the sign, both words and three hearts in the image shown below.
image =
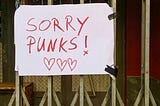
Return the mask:
<svg viewBox="0 0 160 106">
<path fill-rule="evenodd" d="M 45 19 L 29 18 L 26 22 L 26 32 L 28 34 L 26 37 L 27 52 L 29 54 L 33 52 L 67 54 L 70 51 L 81 48 L 84 44 L 85 50 L 82 52 L 84 56 L 87 56 L 88 35 L 83 32 L 86 31 L 84 26 L 87 26 L 88 20 L 88 16 L 82 19 L 71 15 L 66 15 L 62 19 L 56 17 Z M 45 56 L 42 58 L 43 64 L 48 71 L 53 70 L 54 67 L 61 72 L 64 70 L 73 71 L 78 64 L 78 60 L 73 58 L 47 58 Z"/>
</svg>

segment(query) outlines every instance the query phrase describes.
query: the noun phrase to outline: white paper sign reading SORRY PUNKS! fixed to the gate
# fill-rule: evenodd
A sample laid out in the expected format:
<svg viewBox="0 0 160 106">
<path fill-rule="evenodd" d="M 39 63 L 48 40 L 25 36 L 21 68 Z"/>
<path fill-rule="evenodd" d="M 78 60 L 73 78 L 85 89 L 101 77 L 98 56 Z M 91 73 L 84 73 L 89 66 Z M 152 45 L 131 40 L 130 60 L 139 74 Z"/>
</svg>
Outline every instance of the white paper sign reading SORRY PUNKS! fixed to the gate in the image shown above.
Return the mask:
<svg viewBox="0 0 160 106">
<path fill-rule="evenodd" d="M 27 75 L 107 74 L 112 9 L 103 3 L 29 6 L 15 12 L 15 70 Z"/>
</svg>

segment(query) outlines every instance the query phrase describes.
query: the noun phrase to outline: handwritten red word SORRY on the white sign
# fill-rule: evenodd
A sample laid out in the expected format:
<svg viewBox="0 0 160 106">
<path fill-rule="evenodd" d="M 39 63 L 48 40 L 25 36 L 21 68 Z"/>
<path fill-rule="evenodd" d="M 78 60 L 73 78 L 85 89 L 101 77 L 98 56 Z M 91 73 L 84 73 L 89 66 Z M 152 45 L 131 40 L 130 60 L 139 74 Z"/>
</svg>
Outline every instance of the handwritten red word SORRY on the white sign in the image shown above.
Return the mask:
<svg viewBox="0 0 160 106">
<path fill-rule="evenodd" d="M 51 18 L 39 20 L 32 17 L 27 20 L 26 31 L 34 32 L 52 30 L 53 32 L 67 32 L 70 30 L 76 31 L 77 35 L 79 36 L 88 19 L 89 17 L 84 19 L 80 19 L 79 17 L 73 18 L 71 15 L 66 15 L 64 19 Z M 78 27 L 76 27 L 75 24 Z"/>
</svg>

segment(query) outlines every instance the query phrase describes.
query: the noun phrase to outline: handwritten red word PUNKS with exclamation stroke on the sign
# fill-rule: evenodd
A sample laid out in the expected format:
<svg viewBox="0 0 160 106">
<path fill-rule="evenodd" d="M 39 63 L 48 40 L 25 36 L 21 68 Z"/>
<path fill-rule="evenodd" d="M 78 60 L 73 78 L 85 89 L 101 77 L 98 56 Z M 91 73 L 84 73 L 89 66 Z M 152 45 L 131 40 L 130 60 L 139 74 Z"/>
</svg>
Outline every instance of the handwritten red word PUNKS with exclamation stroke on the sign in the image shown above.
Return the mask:
<svg viewBox="0 0 160 106">
<path fill-rule="evenodd" d="M 28 53 L 31 54 L 33 50 L 36 52 L 68 52 L 77 49 L 78 44 L 76 43 L 78 40 L 77 36 L 66 39 L 65 37 L 46 39 L 42 37 L 27 37 L 27 47 Z M 87 46 L 87 35 L 84 36 L 84 46 Z"/>
</svg>

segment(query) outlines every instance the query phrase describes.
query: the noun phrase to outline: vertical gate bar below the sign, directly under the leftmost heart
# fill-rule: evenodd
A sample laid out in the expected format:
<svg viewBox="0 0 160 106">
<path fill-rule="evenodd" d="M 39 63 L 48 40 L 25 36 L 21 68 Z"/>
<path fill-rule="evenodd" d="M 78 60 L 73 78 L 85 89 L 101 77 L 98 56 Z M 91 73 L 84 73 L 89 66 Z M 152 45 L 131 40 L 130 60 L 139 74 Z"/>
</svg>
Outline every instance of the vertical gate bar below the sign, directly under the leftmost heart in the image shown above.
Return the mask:
<svg viewBox="0 0 160 106">
<path fill-rule="evenodd" d="M 53 78 L 52 76 L 48 76 L 48 106 L 52 106 L 53 104 Z"/>
</svg>

